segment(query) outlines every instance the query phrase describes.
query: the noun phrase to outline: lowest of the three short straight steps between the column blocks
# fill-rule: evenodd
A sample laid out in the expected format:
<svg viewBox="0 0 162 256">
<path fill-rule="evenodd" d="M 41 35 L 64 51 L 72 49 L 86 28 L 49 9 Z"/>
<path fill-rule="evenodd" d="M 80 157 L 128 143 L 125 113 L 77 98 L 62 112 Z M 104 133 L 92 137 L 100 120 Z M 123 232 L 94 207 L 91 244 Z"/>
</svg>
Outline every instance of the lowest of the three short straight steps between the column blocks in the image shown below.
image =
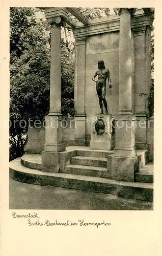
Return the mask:
<svg viewBox="0 0 162 256">
<path fill-rule="evenodd" d="M 65 166 L 64 173 L 106 178 L 107 168 L 69 164 Z"/>
</svg>

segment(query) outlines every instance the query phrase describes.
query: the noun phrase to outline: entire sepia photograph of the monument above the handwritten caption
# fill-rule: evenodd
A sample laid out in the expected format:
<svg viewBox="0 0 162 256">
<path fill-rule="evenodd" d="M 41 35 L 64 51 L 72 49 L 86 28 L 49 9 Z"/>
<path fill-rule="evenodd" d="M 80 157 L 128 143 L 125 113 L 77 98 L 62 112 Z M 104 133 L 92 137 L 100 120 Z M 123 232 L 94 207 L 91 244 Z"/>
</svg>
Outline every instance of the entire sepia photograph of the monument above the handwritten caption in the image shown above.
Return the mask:
<svg viewBox="0 0 162 256">
<path fill-rule="evenodd" d="M 155 12 L 10 7 L 9 209 L 153 211 Z"/>
</svg>

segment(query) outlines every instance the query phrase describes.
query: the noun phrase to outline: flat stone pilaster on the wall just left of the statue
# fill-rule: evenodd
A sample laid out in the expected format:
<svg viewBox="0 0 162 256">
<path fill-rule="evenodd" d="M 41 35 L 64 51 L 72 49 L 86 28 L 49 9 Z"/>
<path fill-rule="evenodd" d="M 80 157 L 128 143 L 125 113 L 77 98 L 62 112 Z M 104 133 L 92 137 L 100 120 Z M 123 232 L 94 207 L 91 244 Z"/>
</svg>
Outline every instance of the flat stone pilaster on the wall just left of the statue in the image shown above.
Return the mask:
<svg viewBox="0 0 162 256">
<path fill-rule="evenodd" d="M 75 145 L 86 145 L 85 115 L 85 54 L 86 37 L 75 38 Z"/>
</svg>

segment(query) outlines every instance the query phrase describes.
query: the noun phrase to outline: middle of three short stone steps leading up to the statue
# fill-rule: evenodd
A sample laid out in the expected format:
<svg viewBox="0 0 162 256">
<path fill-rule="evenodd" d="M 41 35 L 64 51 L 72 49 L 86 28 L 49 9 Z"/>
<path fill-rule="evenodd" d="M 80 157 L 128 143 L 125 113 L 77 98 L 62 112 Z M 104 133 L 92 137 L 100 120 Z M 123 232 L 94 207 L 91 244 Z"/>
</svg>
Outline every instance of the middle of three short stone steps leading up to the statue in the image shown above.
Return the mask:
<svg viewBox="0 0 162 256">
<path fill-rule="evenodd" d="M 71 164 L 88 165 L 96 167 L 107 167 L 107 159 L 103 157 L 83 157 L 75 156 L 71 158 Z"/>
</svg>

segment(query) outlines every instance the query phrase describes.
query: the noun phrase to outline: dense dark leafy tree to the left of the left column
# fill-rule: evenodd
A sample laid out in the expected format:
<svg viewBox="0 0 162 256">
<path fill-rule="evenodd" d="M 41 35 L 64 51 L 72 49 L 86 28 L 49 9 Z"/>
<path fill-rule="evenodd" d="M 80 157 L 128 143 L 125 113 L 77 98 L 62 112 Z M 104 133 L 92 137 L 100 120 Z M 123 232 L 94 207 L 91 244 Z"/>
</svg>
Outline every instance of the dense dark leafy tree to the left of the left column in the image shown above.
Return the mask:
<svg viewBox="0 0 162 256">
<path fill-rule="evenodd" d="M 37 11 L 10 9 L 10 160 L 23 154 L 29 120 L 42 120 L 49 109 L 49 27 Z"/>
</svg>

